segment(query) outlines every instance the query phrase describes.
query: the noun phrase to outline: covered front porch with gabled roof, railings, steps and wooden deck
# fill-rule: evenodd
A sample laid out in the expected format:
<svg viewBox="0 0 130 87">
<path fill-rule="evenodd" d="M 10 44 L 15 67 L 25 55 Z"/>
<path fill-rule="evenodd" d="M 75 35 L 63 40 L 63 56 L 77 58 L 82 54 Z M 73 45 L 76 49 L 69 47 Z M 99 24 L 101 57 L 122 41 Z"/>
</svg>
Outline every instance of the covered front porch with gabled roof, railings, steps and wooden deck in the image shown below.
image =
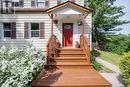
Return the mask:
<svg viewBox="0 0 130 87">
<path fill-rule="evenodd" d="M 69 12 L 66 15 L 71 17 L 71 20 L 65 20 L 64 17 L 66 18 L 67 16 L 65 16 L 64 14 L 55 14 L 55 12 L 59 12 L 57 11 L 58 8 L 61 9 L 64 7 L 69 7 L 73 9 L 73 11 L 78 10 L 80 11 L 80 14 L 73 14 L 71 16 Z M 49 13 L 52 20 L 51 36 L 47 43 L 47 64 L 45 65 L 45 71 L 41 72 L 39 76 L 32 81 L 31 86 L 111 87 L 111 84 L 107 80 L 105 80 L 100 74 L 98 74 L 98 72 L 93 69 L 93 66 L 90 63 L 90 45 L 88 38 L 86 38 L 85 35 L 84 20 L 85 17 L 89 13 L 91 13 L 91 10 L 88 8 L 80 7 L 79 5 L 68 1 L 49 9 L 47 12 Z M 63 26 L 63 29 L 60 29 L 62 31 L 62 35 L 59 34 L 60 37 L 57 37 L 53 33 L 53 25 L 55 20 L 60 21 L 59 23 L 61 23 L 61 25 L 64 25 L 64 23 L 71 23 L 71 25 L 74 25 L 75 21 L 72 19 L 76 15 L 77 18 L 74 18 L 75 21 L 77 22 L 77 20 L 80 19 L 82 22 L 82 32 L 79 35 L 79 48 L 74 48 L 73 39 L 75 37 L 72 37 L 74 33 L 69 31 L 71 29 L 74 30 L 76 28 L 73 28 L 70 25 Z M 66 30 L 65 32 L 64 29 Z M 60 43 L 62 43 L 62 46 L 58 45 L 58 39 L 60 39 Z M 67 41 L 69 40 L 69 42 L 67 42 L 66 39 Z M 75 39 L 77 40 L 77 38 Z"/>
</svg>

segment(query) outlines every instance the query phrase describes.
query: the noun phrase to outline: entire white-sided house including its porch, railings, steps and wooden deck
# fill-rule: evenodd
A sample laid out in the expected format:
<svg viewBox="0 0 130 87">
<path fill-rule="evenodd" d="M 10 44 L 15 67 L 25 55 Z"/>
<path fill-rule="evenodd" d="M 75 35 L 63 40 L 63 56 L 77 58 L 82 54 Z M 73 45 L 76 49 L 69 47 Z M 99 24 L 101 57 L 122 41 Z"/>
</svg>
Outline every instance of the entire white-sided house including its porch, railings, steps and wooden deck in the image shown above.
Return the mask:
<svg viewBox="0 0 130 87">
<path fill-rule="evenodd" d="M 32 87 L 111 87 L 90 63 L 92 10 L 84 0 L 2 0 L 0 45 L 47 52 Z M 79 47 L 75 48 L 75 44 Z"/>
</svg>

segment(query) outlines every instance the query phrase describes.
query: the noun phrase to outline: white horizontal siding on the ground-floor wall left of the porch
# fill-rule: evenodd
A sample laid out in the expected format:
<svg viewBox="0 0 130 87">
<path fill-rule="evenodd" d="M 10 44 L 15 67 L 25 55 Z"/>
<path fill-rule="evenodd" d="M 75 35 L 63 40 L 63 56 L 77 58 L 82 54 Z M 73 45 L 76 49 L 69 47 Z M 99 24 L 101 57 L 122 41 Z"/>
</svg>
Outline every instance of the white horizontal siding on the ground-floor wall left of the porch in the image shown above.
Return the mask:
<svg viewBox="0 0 130 87">
<path fill-rule="evenodd" d="M 51 20 L 48 14 L 16 14 L 16 15 L 1 15 L 0 26 L 3 22 L 16 22 L 16 39 L 0 39 L 0 46 L 18 46 L 26 47 L 30 42 L 37 48 L 46 50 L 46 44 L 50 37 Z M 24 39 L 24 22 L 44 22 L 45 23 L 45 39 L 30 38 Z M 2 30 L 2 27 L 0 27 Z M 1 32 L 2 33 L 2 32 Z M 54 34 L 57 35 L 57 28 L 54 25 Z M 2 35 L 2 34 L 1 34 Z"/>
</svg>

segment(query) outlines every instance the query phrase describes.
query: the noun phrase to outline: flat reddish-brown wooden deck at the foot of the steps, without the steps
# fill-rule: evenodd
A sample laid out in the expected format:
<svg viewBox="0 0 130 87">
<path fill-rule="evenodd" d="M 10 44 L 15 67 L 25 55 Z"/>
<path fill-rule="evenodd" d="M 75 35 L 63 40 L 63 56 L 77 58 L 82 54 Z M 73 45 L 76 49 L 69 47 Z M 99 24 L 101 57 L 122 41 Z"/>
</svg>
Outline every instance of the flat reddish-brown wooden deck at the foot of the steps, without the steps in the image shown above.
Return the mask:
<svg viewBox="0 0 130 87">
<path fill-rule="evenodd" d="M 94 69 L 50 69 L 41 73 L 33 87 L 111 87 Z"/>
</svg>

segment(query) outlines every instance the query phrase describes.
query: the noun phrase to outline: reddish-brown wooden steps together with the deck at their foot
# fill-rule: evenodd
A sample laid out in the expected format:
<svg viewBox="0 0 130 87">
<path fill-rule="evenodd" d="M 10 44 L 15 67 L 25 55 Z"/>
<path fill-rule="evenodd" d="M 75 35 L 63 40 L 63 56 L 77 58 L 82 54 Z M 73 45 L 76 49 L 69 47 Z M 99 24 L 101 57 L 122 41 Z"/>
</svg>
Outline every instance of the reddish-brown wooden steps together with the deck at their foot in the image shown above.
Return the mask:
<svg viewBox="0 0 130 87">
<path fill-rule="evenodd" d="M 60 48 L 56 58 L 45 65 L 32 87 L 111 87 L 92 65 L 81 48 Z"/>
</svg>

